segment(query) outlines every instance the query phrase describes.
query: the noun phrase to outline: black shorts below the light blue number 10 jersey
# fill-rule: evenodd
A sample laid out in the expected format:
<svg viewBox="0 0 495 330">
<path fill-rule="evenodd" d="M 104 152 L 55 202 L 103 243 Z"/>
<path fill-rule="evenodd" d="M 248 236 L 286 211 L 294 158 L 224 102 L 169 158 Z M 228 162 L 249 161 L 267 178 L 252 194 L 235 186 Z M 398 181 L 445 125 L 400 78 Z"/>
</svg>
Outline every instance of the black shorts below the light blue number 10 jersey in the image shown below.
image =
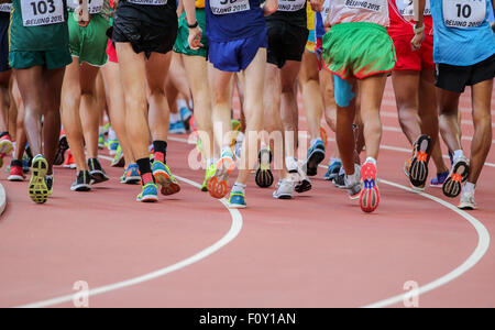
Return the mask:
<svg viewBox="0 0 495 330">
<path fill-rule="evenodd" d="M 435 86 L 454 92 L 464 92 L 466 86 L 473 86 L 493 79 L 494 77 L 495 54 L 485 61 L 470 66 L 437 63 L 435 69 Z"/>
</svg>

